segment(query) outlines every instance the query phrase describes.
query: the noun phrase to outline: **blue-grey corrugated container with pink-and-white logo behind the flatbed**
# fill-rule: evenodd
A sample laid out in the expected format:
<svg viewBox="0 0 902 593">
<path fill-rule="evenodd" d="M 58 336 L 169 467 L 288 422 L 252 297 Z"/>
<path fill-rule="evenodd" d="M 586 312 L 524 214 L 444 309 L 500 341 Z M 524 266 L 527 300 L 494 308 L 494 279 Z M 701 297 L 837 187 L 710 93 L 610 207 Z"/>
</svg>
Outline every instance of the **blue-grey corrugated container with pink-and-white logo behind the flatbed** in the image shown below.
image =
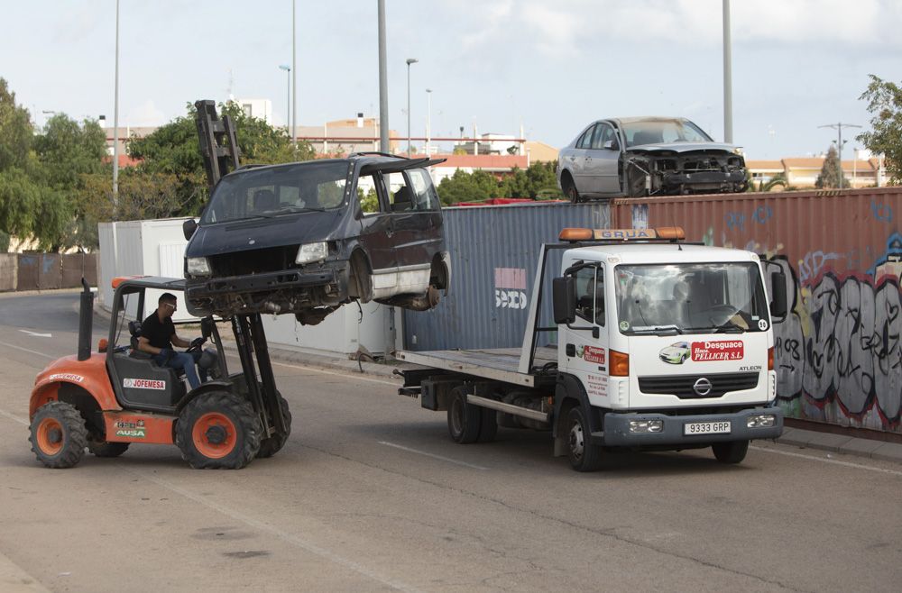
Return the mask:
<svg viewBox="0 0 902 593">
<path fill-rule="evenodd" d="M 601 203 L 457 207 L 443 214 L 451 294 L 431 311 L 404 312 L 404 347 L 411 351 L 519 348 L 542 244 L 557 242 L 564 227 L 599 228 L 610 221 L 608 205 Z M 550 278 L 559 273 L 559 253 L 549 267 L 547 295 Z M 542 310 L 544 324 L 551 324 L 550 296 Z"/>
</svg>

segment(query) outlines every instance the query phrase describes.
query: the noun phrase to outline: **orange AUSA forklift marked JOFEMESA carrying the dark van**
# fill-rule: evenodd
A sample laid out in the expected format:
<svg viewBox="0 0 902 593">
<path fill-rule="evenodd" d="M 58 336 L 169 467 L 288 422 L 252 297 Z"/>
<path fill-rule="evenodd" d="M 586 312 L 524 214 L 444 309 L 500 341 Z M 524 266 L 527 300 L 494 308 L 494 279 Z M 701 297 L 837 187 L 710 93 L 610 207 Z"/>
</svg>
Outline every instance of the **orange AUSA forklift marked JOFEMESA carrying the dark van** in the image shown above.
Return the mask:
<svg viewBox="0 0 902 593">
<path fill-rule="evenodd" d="M 137 348 L 141 320 L 161 292 L 179 293 L 177 278 L 115 278 L 107 339 L 91 351 L 94 294 L 82 279 L 78 355 L 43 369 L 34 381 L 29 440 L 49 468 L 70 468 L 85 450 L 116 457 L 133 442 L 176 444 L 196 469 L 243 468 L 271 457 L 288 440 L 291 413 L 276 389 L 259 314 L 200 320 L 202 342 L 216 344 L 210 377 L 189 389 L 176 369 L 161 367 Z M 230 374 L 217 323 L 231 323 L 242 371 Z M 197 320 L 177 324 L 197 324 Z M 259 373 L 259 377 L 258 377 Z"/>
</svg>

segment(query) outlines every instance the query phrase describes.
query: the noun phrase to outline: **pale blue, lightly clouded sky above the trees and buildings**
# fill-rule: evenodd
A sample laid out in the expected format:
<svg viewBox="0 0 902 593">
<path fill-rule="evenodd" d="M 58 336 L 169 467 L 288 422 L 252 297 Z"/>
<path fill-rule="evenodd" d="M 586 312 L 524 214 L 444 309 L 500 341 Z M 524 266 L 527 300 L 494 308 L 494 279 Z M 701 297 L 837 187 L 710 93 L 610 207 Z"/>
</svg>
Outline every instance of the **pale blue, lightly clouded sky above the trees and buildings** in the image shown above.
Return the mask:
<svg viewBox="0 0 902 593">
<path fill-rule="evenodd" d="M 284 125 L 291 0 L 121 0 L 119 120 L 160 125 L 200 98 L 268 98 Z M 597 119 L 676 115 L 723 141 L 723 0 L 386 0 L 389 124 L 557 148 Z M 899 0 L 732 0 L 733 143 L 747 159 L 819 154 L 870 126 L 873 74 L 902 82 Z M 299 125 L 379 113 L 376 0 L 296 0 Z M 106 115 L 115 0 L 7 0 L 0 78 L 45 111 Z M 843 156 L 861 147 L 843 130 Z"/>
</svg>

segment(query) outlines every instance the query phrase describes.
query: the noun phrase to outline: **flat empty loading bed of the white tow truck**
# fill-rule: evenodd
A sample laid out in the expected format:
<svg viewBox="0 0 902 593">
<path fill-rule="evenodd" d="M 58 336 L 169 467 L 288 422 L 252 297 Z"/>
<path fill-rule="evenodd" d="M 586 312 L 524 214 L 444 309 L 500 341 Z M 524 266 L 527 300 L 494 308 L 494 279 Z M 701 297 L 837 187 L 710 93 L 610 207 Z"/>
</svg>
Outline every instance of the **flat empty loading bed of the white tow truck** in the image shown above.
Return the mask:
<svg viewBox="0 0 902 593">
<path fill-rule="evenodd" d="M 425 352 L 398 351 L 399 360 L 412 362 L 433 369 L 451 370 L 458 373 L 496 379 L 534 388 L 537 379 L 545 379 L 536 372 L 521 373 L 520 348 L 497 348 L 492 350 L 434 350 Z M 557 350 L 537 348 L 533 357 L 533 368 L 541 369 L 548 363 L 557 364 Z"/>
</svg>

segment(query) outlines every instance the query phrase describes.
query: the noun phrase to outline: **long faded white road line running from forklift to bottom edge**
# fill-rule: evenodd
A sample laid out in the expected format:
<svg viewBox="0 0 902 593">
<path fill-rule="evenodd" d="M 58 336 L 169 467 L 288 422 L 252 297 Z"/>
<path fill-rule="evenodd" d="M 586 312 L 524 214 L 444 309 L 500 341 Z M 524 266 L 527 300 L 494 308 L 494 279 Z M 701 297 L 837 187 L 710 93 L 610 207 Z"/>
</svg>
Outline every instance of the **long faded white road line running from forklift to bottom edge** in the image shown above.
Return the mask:
<svg viewBox="0 0 902 593">
<path fill-rule="evenodd" d="M 278 537 L 285 543 L 290 543 L 291 545 L 299 547 L 302 550 L 306 550 L 307 552 L 316 554 L 317 556 L 319 556 L 321 558 L 325 558 L 329 561 L 333 561 L 336 564 L 344 566 L 347 569 L 353 570 L 354 572 L 356 572 L 360 575 L 363 575 L 364 577 L 368 577 L 377 582 L 380 582 L 380 583 L 382 583 L 382 585 L 385 585 L 387 587 L 391 587 L 394 589 L 398 589 L 400 591 L 419 591 L 418 588 L 411 587 L 407 583 L 401 582 L 400 580 L 389 579 L 387 577 L 383 577 L 376 571 L 366 568 L 363 564 L 360 564 L 353 560 L 349 560 L 349 559 L 345 558 L 344 556 L 340 556 L 340 555 L 336 554 L 336 552 L 331 552 L 330 550 L 327 550 L 326 548 L 321 548 L 317 544 L 311 543 L 308 540 L 304 539 L 303 537 L 300 537 L 299 535 L 290 534 L 286 531 L 282 531 L 278 527 L 274 527 L 272 525 L 264 523 L 263 521 L 254 519 L 251 516 L 244 515 L 244 513 L 241 513 L 240 511 L 236 511 L 235 509 L 215 503 L 212 500 L 208 500 L 205 497 L 194 494 L 193 492 L 190 492 L 189 490 L 187 490 L 185 488 L 176 486 L 175 484 L 173 484 L 165 479 L 162 479 L 158 476 L 155 476 L 150 473 L 143 472 L 143 471 L 139 471 L 139 470 L 133 470 L 132 468 L 126 466 L 124 463 L 117 463 L 116 465 L 118 465 L 120 468 L 122 468 L 126 472 L 133 474 L 134 476 L 138 476 L 140 478 L 152 481 L 154 484 L 156 484 L 157 486 L 160 486 L 161 488 L 166 488 L 166 489 L 168 489 L 172 492 L 175 492 L 176 494 L 179 494 L 183 497 L 186 497 L 189 500 L 192 500 L 200 505 L 207 506 L 207 508 L 210 508 L 223 515 L 226 515 L 226 516 L 234 519 L 235 521 L 240 521 L 240 522 L 244 523 L 244 525 L 249 525 L 249 526 L 253 527 L 254 529 L 259 529 L 260 531 L 275 535 L 276 537 Z M 213 475 L 213 474 L 208 474 L 208 475 Z"/>
</svg>

